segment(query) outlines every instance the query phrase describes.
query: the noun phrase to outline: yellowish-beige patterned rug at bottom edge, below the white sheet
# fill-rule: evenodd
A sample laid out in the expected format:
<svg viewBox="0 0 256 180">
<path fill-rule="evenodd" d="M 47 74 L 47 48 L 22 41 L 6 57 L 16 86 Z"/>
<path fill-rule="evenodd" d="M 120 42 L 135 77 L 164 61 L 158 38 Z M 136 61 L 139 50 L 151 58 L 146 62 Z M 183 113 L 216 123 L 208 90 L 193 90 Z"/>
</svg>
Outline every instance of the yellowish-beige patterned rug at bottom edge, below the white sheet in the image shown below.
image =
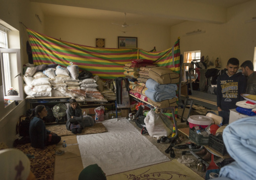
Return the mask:
<svg viewBox="0 0 256 180">
<path fill-rule="evenodd" d="M 179 163 L 176 159 L 107 176 L 107 180 L 203 180 L 196 172 Z"/>
</svg>

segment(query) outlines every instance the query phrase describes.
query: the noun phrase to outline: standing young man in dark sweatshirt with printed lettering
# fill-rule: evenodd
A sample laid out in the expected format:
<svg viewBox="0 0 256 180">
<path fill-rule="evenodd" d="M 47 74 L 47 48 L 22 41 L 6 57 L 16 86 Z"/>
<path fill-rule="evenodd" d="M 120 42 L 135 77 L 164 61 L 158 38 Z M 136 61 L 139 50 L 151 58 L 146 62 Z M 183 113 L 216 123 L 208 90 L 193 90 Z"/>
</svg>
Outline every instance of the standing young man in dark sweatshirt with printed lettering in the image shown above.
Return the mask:
<svg viewBox="0 0 256 180">
<path fill-rule="evenodd" d="M 244 100 L 240 94 L 245 92 L 246 78 L 237 72 L 238 67 L 238 59 L 230 58 L 227 71 L 217 79 L 217 107 L 223 124 L 229 123 L 229 109 L 235 109 L 236 102 Z"/>
</svg>

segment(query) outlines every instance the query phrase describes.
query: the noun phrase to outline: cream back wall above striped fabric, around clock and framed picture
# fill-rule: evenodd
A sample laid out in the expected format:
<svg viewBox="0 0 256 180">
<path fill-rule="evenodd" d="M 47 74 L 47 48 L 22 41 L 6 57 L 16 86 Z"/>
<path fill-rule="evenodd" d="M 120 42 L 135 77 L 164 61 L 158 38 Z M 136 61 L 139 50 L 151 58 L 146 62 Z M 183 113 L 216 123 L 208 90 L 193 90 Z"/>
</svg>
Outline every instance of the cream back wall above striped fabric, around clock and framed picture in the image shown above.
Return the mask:
<svg viewBox="0 0 256 180">
<path fill-rule="evenodd" d="M 170 28 L 151 24 L 138 24 L 128 28 L 112 25 L 106 21 L 92 21 L 67 17 L 45 16 L 45 35 L 71 43 L 95 47 L 96 38 L 105 39 L 106 48 L 118 48 L 117 37 L 137 37 L 138 48 L 150 51 L 169 49 Z M 126 33 L 123 33 L 126 31 Z"/>
</svg>

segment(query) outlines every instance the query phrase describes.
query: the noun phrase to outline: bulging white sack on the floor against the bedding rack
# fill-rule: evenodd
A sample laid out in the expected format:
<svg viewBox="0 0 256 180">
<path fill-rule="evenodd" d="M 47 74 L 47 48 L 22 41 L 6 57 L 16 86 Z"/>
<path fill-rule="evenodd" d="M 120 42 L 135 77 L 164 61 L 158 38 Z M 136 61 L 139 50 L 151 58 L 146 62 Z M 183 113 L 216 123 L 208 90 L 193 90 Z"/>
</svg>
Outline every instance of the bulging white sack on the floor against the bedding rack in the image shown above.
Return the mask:
<svg viewBox="0 0 256 180">
<path fill-rule="evenodd" d="M 149 135 L 156 137 L 157 139 L 160 139 L 162 136 L 169 136 L 172 132 L 171 129 L 165 125 L 161 116 L 153 109 L 149 111 L 144 122 Z"/>
</svg>

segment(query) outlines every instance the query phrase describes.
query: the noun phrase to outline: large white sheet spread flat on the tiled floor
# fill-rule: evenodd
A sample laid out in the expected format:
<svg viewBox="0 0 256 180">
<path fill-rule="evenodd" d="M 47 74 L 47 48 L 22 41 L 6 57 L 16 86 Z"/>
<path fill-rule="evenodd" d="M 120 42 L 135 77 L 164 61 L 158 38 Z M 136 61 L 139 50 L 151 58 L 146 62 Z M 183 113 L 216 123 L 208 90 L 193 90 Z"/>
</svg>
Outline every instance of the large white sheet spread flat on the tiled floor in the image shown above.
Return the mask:
<svg viewBox="0 0 256 180">
<path fill-rule="evenodd" d="M 83 166 L 97 163 L 106 175 L 170 160 L 126 118 L 102 121 L 108 132 L 77 135 Z"/>
</svg>

